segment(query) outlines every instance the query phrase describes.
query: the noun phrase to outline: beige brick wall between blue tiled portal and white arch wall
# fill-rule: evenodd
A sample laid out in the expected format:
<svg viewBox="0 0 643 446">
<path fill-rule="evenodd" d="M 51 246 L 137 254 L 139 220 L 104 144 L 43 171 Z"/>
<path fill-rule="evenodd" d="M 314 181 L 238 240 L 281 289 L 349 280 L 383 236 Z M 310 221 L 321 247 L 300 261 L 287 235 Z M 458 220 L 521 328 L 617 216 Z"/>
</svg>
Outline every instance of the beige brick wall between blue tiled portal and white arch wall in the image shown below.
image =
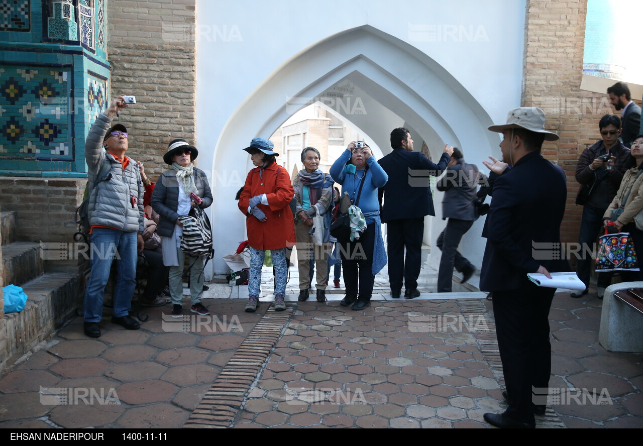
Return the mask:
<svg viewBox="0 0 643 446">
<path fill-rule="evenodd" d="M 128 155 L 155 179 L 172 139 L 195 140 L 196 0 L 111 0 L 107 54 L 111 94 L 133 94 L 120 116 L 131 133 Z"/>
</svg>

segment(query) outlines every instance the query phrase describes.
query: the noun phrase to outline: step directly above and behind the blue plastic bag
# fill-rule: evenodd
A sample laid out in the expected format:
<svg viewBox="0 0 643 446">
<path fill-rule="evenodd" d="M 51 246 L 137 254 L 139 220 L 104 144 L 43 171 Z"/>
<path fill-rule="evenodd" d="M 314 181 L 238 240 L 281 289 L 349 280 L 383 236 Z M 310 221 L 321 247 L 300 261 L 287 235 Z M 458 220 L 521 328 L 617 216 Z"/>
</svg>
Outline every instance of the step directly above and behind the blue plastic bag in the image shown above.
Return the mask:
<svg viewBox="0 0 643 446">
<path fill-rule="evenodd" d="M 3 285 L 21 287 L 44 272 L 40 245 L 32 242 L 13 242 L 2 247 Z"/>
</svg>

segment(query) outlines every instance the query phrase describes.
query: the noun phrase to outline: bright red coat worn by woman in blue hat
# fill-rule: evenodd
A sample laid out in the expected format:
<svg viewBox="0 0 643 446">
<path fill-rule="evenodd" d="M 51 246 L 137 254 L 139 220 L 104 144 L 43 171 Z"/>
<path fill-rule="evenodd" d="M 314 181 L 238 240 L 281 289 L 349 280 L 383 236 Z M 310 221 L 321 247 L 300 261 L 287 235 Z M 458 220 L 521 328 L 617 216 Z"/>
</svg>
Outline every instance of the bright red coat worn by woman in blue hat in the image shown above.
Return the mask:
<svg viewBox="0 0 643 446">
<path fill-rule="evenodd" d="M 249 245 L 255 249 L 281 249 L 295 244 L 293 211 L 290 202 L 294 197 L 290 175 L 277 163 L 264 168 L 263 179 L 259 176 L 260 168 L 248 172 L 246 184 L 239 199 L 239 210 L 246 215 Z M 256 195 L 266 194 L 265 204 L 258 208 L 266 214 L 266 222 L 248 213 L 248 202 Z"/>
</svg>

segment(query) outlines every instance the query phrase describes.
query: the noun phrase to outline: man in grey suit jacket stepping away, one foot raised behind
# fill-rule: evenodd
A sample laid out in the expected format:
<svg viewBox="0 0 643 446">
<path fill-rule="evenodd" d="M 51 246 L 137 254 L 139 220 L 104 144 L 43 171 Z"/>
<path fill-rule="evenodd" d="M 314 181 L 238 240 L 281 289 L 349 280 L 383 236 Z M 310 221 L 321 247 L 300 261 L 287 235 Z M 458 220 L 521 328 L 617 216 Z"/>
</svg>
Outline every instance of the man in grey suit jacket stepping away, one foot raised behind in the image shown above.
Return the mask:
<svg viewBox="0 0 643 446">
<path fill-rule="evenodd" d="M 451 292 L 454 265 L 458 272 L 462 272 L 460 283 L 469 280 L 475 271 L 473 264 L 458 252 L 458 245 L 478 218 L 473 201 L 476 198 L 479 176 L 478 168 L 465 163 L 462 152 L 457 147 L 453 148 L 446 174 L 436 185 L 438 190 L 444 191 L 442 219 L 449 219 L 436 242 L 437 247 L 442 250 L 438 292 Z"/>
</svg>

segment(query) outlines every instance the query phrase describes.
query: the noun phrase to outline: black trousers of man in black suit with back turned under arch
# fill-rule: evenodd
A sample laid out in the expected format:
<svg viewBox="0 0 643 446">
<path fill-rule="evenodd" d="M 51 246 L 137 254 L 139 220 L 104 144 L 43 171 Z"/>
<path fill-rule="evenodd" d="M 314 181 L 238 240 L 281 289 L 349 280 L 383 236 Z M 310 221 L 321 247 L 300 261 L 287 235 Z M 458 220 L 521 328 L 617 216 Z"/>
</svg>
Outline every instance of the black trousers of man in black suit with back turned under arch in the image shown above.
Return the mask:
<svg viewBox="0 0 643 446">
<path fill-rule="evenodd" d="M 407 290 L 417 288 L 422 260 L 424 217 L 386 222 L 388 238 L 388 280 L 392 292 L 400 292 L 402 281 Z M 406 259 L 404 259 L 406 248 Z"/>
</svg>

